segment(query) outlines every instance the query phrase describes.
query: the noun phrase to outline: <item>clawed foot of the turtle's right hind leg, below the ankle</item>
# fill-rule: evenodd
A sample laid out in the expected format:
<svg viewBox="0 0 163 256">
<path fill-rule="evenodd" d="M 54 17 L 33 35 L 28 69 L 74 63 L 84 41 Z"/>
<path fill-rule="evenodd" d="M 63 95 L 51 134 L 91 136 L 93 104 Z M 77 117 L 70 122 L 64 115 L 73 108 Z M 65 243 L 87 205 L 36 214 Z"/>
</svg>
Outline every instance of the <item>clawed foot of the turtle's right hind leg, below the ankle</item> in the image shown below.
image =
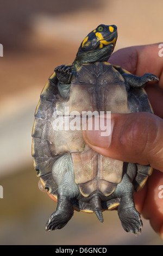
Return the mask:
<svg viewBox="0 0 163 256">
<path fill-rule="evenodd" d="M 139 212 L 136 211 L 134 206 L 122 210 L 118 209 L 118 215 L 125 231 L 133 234 L 141 233 L 142 221 Z"/>
</svg>

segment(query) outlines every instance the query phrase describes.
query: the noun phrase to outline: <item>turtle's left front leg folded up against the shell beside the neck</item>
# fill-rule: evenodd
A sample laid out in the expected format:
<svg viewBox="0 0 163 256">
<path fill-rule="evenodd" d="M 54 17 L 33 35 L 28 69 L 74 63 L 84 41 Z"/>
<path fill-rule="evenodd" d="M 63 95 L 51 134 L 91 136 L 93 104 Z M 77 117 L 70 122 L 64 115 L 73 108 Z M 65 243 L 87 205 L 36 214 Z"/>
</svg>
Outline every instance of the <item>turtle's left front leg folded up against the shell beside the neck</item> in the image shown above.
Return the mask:
<svg viewBox="0 0 163 256">
<path fill-rule="evenodd" d="M 64 99 L 68 99 L 70 95 L 72 70 L 71 66 L 61 65 L 54 69 L 58 78 L 58 90 Z"/>
</svg>

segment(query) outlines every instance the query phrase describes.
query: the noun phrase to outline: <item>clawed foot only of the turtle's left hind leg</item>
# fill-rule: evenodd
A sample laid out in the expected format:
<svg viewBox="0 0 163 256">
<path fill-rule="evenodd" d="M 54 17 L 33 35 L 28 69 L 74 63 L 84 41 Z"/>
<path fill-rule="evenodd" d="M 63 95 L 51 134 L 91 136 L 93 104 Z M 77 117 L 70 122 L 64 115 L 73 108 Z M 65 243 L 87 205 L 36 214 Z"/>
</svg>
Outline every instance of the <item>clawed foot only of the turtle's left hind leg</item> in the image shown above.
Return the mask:
<svg viewBox="0 0 163 256">
<path fill-rule="evenodd" d="M 70 221 L 72 214 L 67 212 L 55 211 L 46 223 L 46 230 L 52 231 L 55 229 L 61 229 L 65 227 L 68 221 Z"/>
</svg>

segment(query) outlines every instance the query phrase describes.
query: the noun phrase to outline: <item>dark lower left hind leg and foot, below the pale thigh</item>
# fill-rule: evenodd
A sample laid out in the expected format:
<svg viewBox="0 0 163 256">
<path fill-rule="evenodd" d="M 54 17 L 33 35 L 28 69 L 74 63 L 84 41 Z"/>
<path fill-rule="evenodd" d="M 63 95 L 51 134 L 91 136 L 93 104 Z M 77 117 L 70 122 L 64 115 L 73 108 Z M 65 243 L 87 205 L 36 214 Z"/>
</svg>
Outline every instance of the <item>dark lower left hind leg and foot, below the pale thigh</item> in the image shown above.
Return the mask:
<svg viewBox="0 0 163 256">
<path fill-rule="evenodd" d="M 73 205 L 71 200 L 65 196 L 58 195 L 57 210 L 53 212 L 48 222 L 46 230 L 55 230 L 63 228 L 73 216 Z"/>
</svg>

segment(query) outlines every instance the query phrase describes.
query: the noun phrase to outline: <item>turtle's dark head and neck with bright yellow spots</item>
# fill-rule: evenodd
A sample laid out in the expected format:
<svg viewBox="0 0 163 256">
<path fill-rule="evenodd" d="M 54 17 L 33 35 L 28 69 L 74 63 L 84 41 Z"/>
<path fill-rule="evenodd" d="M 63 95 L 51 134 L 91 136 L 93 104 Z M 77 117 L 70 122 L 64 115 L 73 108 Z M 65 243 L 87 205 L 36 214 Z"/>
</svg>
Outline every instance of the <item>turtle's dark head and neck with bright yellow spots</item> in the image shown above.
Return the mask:
<svg viewBox="0 0 163 256">
<path fill-rule="evenodd" d="M 79 68 L 83 63 L 107 61 L 117 40 L 115 25 L 99 25 L 82 41 L 73 66 Z"/>
</svg>

